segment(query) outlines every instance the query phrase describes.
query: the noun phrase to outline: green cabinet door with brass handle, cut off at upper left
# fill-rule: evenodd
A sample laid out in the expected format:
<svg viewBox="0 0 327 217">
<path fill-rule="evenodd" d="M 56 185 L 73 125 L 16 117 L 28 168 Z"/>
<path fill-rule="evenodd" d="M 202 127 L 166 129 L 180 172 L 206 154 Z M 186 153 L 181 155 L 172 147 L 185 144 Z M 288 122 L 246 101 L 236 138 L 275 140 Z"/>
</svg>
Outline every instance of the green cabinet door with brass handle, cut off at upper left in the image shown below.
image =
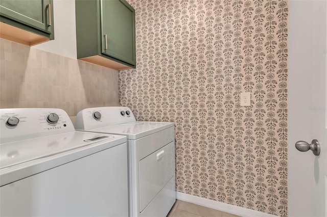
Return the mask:
<svg viewBox="0 0 327 217">
<path fill-rule="evenodd" d="M 1 0 L 0 15 L 45 33 L 53 33 L 51 0 Z"/>
</svg>

